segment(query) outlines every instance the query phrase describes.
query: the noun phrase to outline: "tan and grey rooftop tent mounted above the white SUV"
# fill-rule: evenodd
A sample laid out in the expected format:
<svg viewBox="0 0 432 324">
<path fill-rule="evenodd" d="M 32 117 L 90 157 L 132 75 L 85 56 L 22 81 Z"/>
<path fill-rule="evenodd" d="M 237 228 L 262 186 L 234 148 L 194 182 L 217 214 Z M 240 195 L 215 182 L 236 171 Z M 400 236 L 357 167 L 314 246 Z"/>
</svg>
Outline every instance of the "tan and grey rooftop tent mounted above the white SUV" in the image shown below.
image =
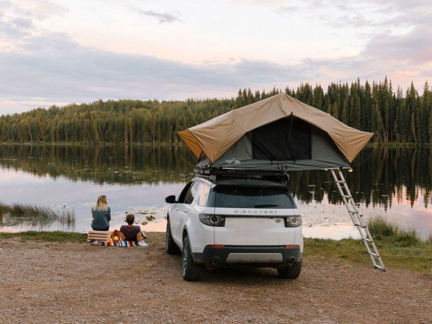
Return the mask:
<svg viewBox="0 0 432 324">
<path fill-rule="evenodd" d="M 284 93 L 178 132 L 198 168 L 349 167 L 373 133 L 349 127 Z"/>
</svg>

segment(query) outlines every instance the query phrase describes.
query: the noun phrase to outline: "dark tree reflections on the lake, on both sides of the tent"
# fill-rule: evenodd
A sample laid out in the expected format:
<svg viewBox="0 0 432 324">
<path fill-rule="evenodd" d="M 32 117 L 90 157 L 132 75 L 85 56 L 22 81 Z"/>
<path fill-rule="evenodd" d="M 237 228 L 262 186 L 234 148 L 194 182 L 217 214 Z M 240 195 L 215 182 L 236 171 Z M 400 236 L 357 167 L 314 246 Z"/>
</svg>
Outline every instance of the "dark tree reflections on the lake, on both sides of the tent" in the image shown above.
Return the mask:
<svg viewBox="0 0 432 324">
<path fill-rule="evenodd" d="M 361 164 L 355 166 L 358 163 Z M 0 146 L 0 166 L 5 168 L 97 184 L 186 182 L 194 176 L 194 164 L 195 160 L 183 146 Z M 393 202 L 407 200 L 413 206 L 421 194 L 423 205 L 427 208 L 430 204 L 430 148 L 368 147 L 353 161 L 353 166 L 354 172 L 344 172 L 344 175 L 357 202 L 387 209 Z M 327 194 L 330 203 L 341 203 L 329 172 L 292 172 L 290 188 L 302 202 L 321 202 Z"/>
</svg>

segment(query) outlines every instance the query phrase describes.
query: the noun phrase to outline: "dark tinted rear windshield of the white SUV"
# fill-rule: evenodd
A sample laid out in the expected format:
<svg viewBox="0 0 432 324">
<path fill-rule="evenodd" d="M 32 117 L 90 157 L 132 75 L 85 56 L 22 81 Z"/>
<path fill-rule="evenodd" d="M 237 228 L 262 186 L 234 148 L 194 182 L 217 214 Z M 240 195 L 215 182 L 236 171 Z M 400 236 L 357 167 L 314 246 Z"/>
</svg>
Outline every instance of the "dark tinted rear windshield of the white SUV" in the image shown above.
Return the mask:
<svg viewBox="0 0 432 324">
<path fill-rule="evenodd" d="M 295 208 L 288 190 L 258 186 L 217 186 L 208 199 L 209 207 Z"/>
</svg>

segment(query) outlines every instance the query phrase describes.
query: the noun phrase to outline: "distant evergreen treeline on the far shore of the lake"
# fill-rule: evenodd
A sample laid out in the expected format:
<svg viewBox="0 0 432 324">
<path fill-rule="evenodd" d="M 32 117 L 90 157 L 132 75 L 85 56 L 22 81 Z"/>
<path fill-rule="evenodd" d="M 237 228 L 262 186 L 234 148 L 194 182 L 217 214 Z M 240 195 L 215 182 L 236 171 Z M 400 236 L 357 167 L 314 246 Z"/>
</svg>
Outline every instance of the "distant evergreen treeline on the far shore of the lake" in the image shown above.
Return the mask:
<svg viewBox="0 0 432 324">
<path fill-rule="evenodd" d="M 3 143 L 176 143 L 175 131 L 284 91 L 342 122 L 377 131 L 383 143 L 432 142 L 432 89 L 413 84 L 394 92 L 391 81 L 332 83 L 324 92 L 308 83 L 296 89 L 239 90 L 236 98 L 184 101 L 108 100 L 0 116 Z"/>
</svg>

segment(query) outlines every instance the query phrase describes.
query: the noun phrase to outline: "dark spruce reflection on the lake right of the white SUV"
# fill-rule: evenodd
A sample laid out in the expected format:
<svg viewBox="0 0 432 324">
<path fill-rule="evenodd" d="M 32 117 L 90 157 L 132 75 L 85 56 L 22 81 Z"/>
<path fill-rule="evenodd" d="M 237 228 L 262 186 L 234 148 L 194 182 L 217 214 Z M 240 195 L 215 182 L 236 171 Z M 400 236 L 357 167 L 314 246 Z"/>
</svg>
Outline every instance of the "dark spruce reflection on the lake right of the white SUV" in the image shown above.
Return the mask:
<svg viewBox="0 0 432 324">
<path fill-rule="evenodd" d="M 413 207 L 419 197 L 424 208 L 431 202 L 430 148 L 368 147 L 353 161 L 353 169 L 354 172 L 344 171 L 345 179 L 354 200 L 366 207 L 383 206 L 386 211 L 394 203 L 409 203 Z M 330 172 L 293 172 L 290 180 L 293 195 L 302 202 L 321 202 L 325 196 L 331 204 L 342 202 Z"/>
</svg>

